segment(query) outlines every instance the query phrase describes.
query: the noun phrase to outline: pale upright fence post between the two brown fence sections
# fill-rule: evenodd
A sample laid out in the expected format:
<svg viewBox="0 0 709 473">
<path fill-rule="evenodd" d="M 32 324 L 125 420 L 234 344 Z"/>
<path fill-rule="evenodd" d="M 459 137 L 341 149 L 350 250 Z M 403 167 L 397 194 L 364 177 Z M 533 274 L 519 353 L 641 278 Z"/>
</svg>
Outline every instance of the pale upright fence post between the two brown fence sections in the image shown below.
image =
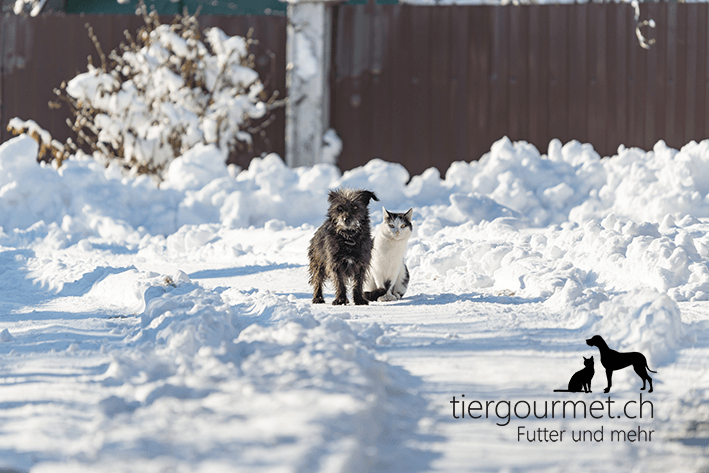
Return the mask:
<svg viewBox="0 0 709 473">
<path fill-rule="evenodd" d="M 288 1 L 288 0 L 287 0 Z M 330 123 L 332 0 L 289 0 L 286 45 L 286 163 L 323 160 Z"/>
</svg>

